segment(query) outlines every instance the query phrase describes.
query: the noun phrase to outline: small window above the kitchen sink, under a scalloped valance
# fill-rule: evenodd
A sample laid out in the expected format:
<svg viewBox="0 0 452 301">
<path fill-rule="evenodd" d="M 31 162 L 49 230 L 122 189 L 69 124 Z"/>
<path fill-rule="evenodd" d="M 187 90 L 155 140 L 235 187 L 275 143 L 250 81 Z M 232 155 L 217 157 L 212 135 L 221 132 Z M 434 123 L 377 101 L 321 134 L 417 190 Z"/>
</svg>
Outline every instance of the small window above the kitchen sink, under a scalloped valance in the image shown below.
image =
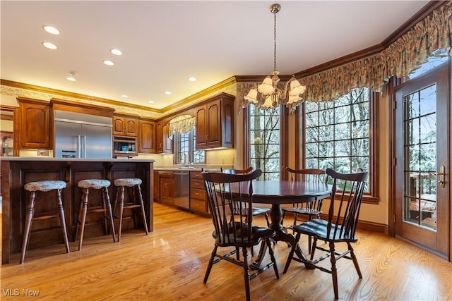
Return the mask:
<svg viewBox="0 0 452 301">
<path fill-rule="evenodd" d="M 205 164 L 206 153 L 196 150 L 196 132 L 174 133 L 174 164 Z"/>
</svg>

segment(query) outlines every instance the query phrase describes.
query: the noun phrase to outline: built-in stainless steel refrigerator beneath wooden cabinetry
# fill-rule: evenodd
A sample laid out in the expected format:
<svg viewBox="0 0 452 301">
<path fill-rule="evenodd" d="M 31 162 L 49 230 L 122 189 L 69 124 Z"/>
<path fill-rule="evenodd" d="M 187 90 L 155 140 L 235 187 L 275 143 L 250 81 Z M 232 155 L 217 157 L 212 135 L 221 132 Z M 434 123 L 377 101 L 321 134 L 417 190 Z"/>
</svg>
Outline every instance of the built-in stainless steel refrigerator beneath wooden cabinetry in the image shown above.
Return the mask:
<svg viewBox="0 0 452 301">
<path fill-rule="evenodd" d="M 55 111 L 55 158 L 112 159 L 112 118 Z"/>
</svg>

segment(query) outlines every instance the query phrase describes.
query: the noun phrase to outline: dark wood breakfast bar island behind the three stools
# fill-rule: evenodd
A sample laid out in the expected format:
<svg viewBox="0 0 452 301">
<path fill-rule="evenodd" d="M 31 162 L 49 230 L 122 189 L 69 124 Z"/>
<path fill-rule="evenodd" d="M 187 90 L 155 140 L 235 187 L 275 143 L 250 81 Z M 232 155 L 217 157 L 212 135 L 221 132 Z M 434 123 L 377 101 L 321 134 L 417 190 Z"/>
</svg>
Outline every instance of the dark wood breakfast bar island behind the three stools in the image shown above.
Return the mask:
<svg viewBox="0 0 452 301">
<path fill-rule="evenodd" d="M 118 178 L 141 178 L 141 191 L 145 206 L 145 218 L 148 231 L 153 231 L 153 163 L 149 159 L 72 159 L 72 158 L 31 158 L 31 157 L 1 157 L 1 196 L 2 196 L 2 264 L 10 262 L 11 254 L 20 252 L 25 226 L 30 192 L 24 190 L 26 183 L 39 180 L 62 180 L 66 188 L 61 191 L 61 198 L 66 219 L 69 241 L 76 235 L 78 208 L 82 191 L 78 181 L 84 179 L 105 179 L 111 182 L 109 198 L 112 206 L 116 196 L 114 180 Z M 39 192 L 38 192 L 39 193 Z M 40 195 L 36 202 L 35 215 L 57 212 L 55 193 L 46 192 Z M 50 198 L 47 202 L 46 198 Z M 125 202 L 129 198 L 126 196 Z M 88 210 L 101 207 L 100 191 L 90 192 Z M 128 228 L 141 227 L 140 219 L 134 221 L 131 211 L 124 212 L 123 232 Z M 114 221 L 118 226 L 117 220 Z M 85 238 L 105 235 L 105 224 L 102 212 L 89 214 L 85 227 Z M 28 250 L 62 244 L 64 242 L 59 219 L 36 220 L 32 223 L 32 234 Z M 113 243 L 113 242 L 112 242 Z M 73 250 L 71 250 L 73 251 Z"/>
</svg>

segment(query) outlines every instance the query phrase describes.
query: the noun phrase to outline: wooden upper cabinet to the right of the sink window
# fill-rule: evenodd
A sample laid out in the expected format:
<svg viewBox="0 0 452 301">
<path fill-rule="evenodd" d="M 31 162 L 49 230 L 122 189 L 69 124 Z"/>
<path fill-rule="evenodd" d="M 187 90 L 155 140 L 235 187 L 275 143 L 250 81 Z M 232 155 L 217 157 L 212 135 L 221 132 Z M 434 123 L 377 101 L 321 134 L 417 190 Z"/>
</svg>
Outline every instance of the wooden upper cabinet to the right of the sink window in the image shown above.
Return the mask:
<svg viewBox="0 0 452 301">
<path fill-rule="evenodd" d="M 196 149 L 234 147 L 234 96 L 219 94 L 196 113 Z"/>
</svg>

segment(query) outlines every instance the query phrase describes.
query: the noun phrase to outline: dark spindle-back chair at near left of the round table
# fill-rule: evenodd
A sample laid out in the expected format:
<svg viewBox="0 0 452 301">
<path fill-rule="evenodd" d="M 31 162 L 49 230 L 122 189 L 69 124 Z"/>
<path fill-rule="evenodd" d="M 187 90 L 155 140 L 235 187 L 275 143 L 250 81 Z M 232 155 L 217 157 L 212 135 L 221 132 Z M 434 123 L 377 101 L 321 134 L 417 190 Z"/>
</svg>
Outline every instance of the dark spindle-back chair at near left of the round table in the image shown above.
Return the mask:
<svg viewBox="0 0 452 301">
<path fill-rule="evenodd" d="M 243 266 L 246 289 L 246 300 L 250 300 L 250 280 L 261 274 L 266 269 L 273 266 L 276 278 L 279 278 L 278 267 L 276 266 L 273 249 L 270 245 L 270 238 L 275 236 L 275 231 L 269 228 L 254 226 L 253 214 L 249 208 L 253 204 L 253 180 L 261 176 L 262 171 L 257 169 L 253 173 L 246 175 L 227 173 L 202 173 L 204 185 L 206 187 L 207 201 L 212 215 L 215 239 L 215 247 L 208 262 L 204 283 L 207 283 L 210 270 L 213 264 L 222 259 Z M 231 193 L 230 188 L 237 188 L 238 192 Z M 231 202 L 234 200 L 235 202 Z M 241 212 L 246 211 L 244 216 Z M 253 247 L 265 240 L 268 245 L 270 262 L 265 266 L 251 266 L 249 264 L 248 248 Z M 232 247 L 227 254 L 218 254 L 218 247 Z M 232 255 L 238 254 L 242 248 L 243 260 Z M 250 274 L 250 272 L 252 274 Z M 229 273 L 225 270 L 225 273 Z"/>
</svg>

